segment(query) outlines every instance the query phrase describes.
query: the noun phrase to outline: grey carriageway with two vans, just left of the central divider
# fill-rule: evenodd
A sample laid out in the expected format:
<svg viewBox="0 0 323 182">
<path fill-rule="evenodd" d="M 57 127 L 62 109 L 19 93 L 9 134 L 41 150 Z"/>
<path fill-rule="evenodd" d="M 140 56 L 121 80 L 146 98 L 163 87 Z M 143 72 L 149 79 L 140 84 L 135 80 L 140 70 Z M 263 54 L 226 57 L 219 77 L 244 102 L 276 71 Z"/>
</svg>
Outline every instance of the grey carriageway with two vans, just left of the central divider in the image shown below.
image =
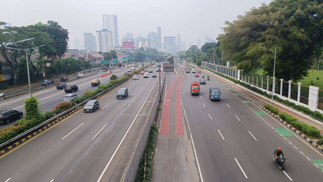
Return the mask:
<svg viewBox="0 0 323 182">
<path fill-rule="evenodd" d="M 139 75 L 120 86 L 129 89 L 126 99 L 116 99 L 116 88 L 94 113 L 80 110 L 1 156 L 0 181 L 119 181 L 151 108 L 146 101 L 157 95 L 157 79 Z M 79 85 L 81 92 L 89 83 Z"/>
</svg>

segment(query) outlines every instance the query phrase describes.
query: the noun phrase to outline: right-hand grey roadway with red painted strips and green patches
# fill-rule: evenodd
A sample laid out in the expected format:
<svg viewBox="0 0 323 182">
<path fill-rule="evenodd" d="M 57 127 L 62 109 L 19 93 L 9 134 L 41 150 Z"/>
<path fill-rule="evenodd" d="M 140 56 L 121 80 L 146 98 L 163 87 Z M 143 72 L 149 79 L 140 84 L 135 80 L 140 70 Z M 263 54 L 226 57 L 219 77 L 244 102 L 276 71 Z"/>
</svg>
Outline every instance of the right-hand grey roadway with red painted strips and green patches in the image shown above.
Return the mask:
<svg viewBox="0 0 323 182">
<path fill-rule="evenodd" d="M 212 75 L 210 81 L 201 85 L 200 95 L 191 96 L 190 83 L 199 81 L 203 75 L 206 77 L 206 72 L 199 78 L 181 70 L 179 73 L 167 76 L 168 92 L 174 92 L 171 96 L 167 95 L 171 103 L 171 113 L 166 115 L 169 123 L 163 125 L 164 118 L 161 120 L 153 181 L 196 181 L 195 174 L 198 174 L 200 181 L 322 179 L 323 168 L 318 168 L 317 164 L 323 164 L 323 154 L 236 93 L 230 83 L 220 81 Z M 184 74 L 185 79 L 182 80 Z M 181 124 L 177 123 L 176 114 L 172 114 L 172 107 L 178 103 L 175 91 L 178 84 L 181 84 L 180 98 L 183 103 L 183 137 L 178 132 Z M 209 87 L 221 90 L 220 102 L 210 101 Z M 175 111 L 177 107 L 180 106 L 176 106 Z M 172 119 L 174 123 L 171 122 Z M 188 146 L 183 142 L 185 140 L 193 140 L 194 143 L 191 142 Z M 284 171 L 273 161 L 274 150 L 278 147 L 283 148 L 287 157 Z M 164 149 L 174 150 L 172 154 L 165 156 L 162 155 L 167 154 Z M 192 161 L 195 162 L 193 167 Z M 190 177 L 184 178 L 183 176 L 187 176 L 184 174 Z"/>
</svg>

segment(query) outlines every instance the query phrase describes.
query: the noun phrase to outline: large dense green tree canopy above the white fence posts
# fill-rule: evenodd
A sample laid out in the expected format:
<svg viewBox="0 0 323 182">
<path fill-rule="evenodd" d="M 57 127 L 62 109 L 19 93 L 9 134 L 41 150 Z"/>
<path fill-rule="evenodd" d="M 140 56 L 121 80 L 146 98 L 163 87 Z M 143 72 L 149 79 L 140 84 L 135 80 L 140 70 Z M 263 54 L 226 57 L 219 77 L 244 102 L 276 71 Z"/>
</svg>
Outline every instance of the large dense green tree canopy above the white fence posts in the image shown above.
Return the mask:
<svg viewBox="0 0 323 182">
<path fill-rule="evenodd" d="M 266 75 L 297 81 L 322 53 L 323 1 L 273 1 L 253 8 L 233 22 L 226 22 L 220 36 L 225 59 L 234 60 L 245 73 L 264 67 Z"/>
</svg>

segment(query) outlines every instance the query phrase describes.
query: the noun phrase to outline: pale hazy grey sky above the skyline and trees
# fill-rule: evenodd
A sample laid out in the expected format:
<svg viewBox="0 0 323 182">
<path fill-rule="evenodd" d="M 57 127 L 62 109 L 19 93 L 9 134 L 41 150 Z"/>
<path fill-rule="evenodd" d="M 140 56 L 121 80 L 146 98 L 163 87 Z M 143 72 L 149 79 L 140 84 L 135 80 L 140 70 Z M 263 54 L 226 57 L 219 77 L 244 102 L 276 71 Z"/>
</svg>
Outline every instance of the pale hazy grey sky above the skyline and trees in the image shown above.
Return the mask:
<svg viewBox="0 0 323 182">
<path fill-rule="evenodd" d="M 48 20 L 59 22 L 69 30 L 71 49 L 74 39 L 80 44 L 83 33 L 95 35 L 103 28 L 102 15 L 117 15 L 119 40 L 127 32 L 134 37 L 148 32 L 157 32 L 161 27 L 161 41 L 164 36 L 181 34 L 186 48 L 189 42 L 196 44 L 197 38 L 204 42 L 204 36 L 212 39 L 223 33 L 225 21 L 232 22 L 252 7 L 262 3 L 268 5 L 271 0 L 2 0 L 0 21 L 12 26 L 27 26 Z"/>
</svg>

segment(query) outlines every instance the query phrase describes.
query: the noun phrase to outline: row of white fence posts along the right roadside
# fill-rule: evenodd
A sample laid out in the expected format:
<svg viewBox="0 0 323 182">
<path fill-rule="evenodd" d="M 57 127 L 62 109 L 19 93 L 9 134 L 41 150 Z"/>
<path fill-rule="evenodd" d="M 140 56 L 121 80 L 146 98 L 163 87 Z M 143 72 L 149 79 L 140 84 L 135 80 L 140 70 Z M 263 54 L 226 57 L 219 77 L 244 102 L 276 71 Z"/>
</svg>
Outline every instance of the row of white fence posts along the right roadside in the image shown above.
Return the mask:
<svg viewBox="0 0 323 182">
<path fill-rule="evenodd" d="M 247 81 L 247 75 L 244 75 L 244 79 L 243 79 L 243 71 L 242 70 L 237 70 L 236 67 L 229 67 L 229 66 L 222 66 L 222 65 L 217 65 L 215 64 L 215 62 L 213 61 L 213 63 L 208 63 L 208 62 L 203 62 L 201 63 L 201 66 L 204 66 L 208 69 L 211 69 L 213 71 L 222 73 L 224 75 L 230 76 L 232 78 L 235 78 L 237 80 L 240 80 L 244 83 L 250 84 L 250 75 L 248 75 L 248 81 Z M 251 86 L 256 86 L 258 89 L 262 90 L 263 92 L 266 92 L 267 94 L 272 94 L 272 92 L 269 90 L 269 79 L 270 76 L 267 76 L 267 88 L 263 89 L 263 75 L 261 75 L 261 87 L 258 86 L 258 74 L 257 76 L 257 81 L 256 81 L 256 85 L 253 84 L 253 76 L 254 74 L 252 74 L 252 83 L 250 84 Z M 276 80 L 276 78 L 275 78 Z M 297 93 L 297 101 L 291 99 L 291 83 L 292 80 L 288 80 L 288 98 L 286 98 L 285 96 L 283 96 L 283 81 L 284 79 L 280 79 L 281 81 L 281 88 L 280 88 L 280 94 L 276 94 L 274 92 L 274 96 L 278 96 L 279 98 L 283 99 L 283 100 L 288 100 L 289 102 L 293 102 L 297 105 L 302 105 L 304 107 L 308 107 L 309 109 L 311 109 L 312 111 L 319 111 L 320 113 L 323 113 L 323 111 L 317 109 L 317 103 L 318 103 L 318 87 L 317 86 L 309 86 L 309 94 L 308 94 L 308 105 L 301 103 L 300 102 L 300 97 L 301 97 L 301 85 L 302 83 L 297 83 L 298 85 L 298 93 Z M 275 90 L 275 82 L 273 83 L 274 86 L 274 90 Z"/>
</svg>

